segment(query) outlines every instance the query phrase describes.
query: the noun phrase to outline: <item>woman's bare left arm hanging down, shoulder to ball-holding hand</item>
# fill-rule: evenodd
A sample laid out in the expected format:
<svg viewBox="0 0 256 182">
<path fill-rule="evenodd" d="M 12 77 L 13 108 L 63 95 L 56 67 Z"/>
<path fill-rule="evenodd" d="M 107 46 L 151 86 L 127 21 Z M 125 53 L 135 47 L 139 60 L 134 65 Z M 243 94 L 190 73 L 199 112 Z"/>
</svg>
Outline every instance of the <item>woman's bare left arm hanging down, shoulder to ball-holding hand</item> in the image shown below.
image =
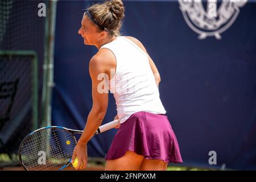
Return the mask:
<svg viewBox="0 0 256 182">
<path fill-rule="evenodd" d="M 92 78 L 92 99 L 93 106 L 87 118 L 87 122 L 76 147 L 73 150 L 72 163 L 75 158 L 78 158 L 78 165 L 76 169 L 84 169 L 87 164 L 87 146 L 86 144 L 92 138 L 95 131 L 101 125 L 103 118 L 105 117 L 106 110 L 108 108 L 108 92 L 102 92 L 102 82 L 106 84 L 106 73 L 102 61 L 96 56 L 90 60 L 89 73 Z M 98 76 L 102 75 L 102 80 L 98 80 Z M 105 77 L 105 78 L 104 78 Z M 103 90 L 104 91 L 104 90 Z"/>
</svg>

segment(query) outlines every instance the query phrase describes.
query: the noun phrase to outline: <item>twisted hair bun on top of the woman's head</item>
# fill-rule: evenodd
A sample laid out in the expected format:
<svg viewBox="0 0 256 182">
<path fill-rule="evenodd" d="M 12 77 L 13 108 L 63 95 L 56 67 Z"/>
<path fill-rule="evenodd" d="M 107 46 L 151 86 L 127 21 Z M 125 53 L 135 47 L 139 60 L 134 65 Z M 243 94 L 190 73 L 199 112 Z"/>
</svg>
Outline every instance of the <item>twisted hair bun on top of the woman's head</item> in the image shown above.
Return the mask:
<svg viewBox="0 0 256 182">
<path fill-rule="evenodd" d="M 109 1 L 107 5 L 116 19 L 122 19 L 125 17 L 125 7 L 123 7 L 123 2 L 121 0 Z"/>
</svg>

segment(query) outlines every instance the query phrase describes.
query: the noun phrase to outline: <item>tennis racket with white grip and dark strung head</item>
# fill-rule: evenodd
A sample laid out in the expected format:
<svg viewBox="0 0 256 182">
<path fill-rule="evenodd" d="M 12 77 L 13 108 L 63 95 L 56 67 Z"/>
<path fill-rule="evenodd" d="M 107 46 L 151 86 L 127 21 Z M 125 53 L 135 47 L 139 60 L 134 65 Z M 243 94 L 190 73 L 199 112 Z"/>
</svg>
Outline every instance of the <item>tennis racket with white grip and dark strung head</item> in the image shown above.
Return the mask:
<svg viewBox="0 0 256 182">
<path fill-rule="evenodd" d="M 94 135 L 112 129 L 119 124 L 118 119 L 100 126 Z M 60 126 L 48 126 L 28 134 L 20 144 L 19 160 L 27 171 L 60 171 L 69 166 L 73 150 L 77 144 L 75 133 Z"/>
</svg>

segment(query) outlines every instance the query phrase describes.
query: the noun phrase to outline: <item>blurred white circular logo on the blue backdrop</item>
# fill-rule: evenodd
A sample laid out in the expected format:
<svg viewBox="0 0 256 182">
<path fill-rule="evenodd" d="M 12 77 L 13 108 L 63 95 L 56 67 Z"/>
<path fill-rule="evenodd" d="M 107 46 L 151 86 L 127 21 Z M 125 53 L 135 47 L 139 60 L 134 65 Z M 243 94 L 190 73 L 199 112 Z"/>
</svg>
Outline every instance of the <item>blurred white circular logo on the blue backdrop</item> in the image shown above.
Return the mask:
<svg viewBox="0 0 256 182">
<path fill-rule="evenodd" d="M 247 0 L 223 0 L 217 9 L 217 0 L 208 0 L 205 10 L 201 0 L 179 0 L 185 22 L 199 34 L 199 39 L 215 36 L 221 39 L 221 33 L 226 31 L 236 20 L 240 7 Z"/>
</svg>

